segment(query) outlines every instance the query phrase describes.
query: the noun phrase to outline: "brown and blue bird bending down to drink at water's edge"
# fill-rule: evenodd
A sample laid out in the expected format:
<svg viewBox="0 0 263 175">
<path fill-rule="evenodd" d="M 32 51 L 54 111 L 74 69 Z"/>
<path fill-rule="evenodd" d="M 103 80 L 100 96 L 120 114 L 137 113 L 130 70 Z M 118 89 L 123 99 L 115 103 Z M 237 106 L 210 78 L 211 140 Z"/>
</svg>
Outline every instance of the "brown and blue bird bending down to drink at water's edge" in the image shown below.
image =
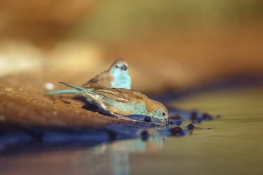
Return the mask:
<svg viewBox="0 0 263 175">
<path fill-rule="evenodd" d="M 169 114 L 166 107 L 161 102 L 147 98 L 143 93 L 117 88 L 87 89 L 65 82 L 60 83 L 82 91 L 100 109 L 116 116 L 116 118 L 130 120 L 127 116 L 142 115 L 156 118 L 169 125 Z"/>
</svg>

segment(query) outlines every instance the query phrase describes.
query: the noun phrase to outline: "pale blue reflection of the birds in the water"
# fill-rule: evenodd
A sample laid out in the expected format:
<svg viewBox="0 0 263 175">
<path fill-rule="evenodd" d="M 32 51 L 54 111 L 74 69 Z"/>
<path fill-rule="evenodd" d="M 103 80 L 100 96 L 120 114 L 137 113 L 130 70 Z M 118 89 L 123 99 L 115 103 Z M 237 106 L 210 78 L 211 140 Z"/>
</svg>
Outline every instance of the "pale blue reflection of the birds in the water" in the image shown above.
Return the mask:
<svg viewBox="0 0 263 175">
<path fill-rule="evenodd" d="M 111 174 L 129 174 L 129 157 L 131 154 L 158 151 L 163 149 L 166 143 L 167 137 L 154 136 L 149 137 L 147 140 L 140 138 L 122 140 L 93 147 L 93 151 L 96 154 L 109 154 L 109 159 L 100 159 L 100 162 L 97 164 L 99 166 L 97 170 L 98 172 L 105 172 L 105 169 L 108 169 L 111 171 Z M 105 167 L 105 165 L 107 167 Z"/>
</svg>

